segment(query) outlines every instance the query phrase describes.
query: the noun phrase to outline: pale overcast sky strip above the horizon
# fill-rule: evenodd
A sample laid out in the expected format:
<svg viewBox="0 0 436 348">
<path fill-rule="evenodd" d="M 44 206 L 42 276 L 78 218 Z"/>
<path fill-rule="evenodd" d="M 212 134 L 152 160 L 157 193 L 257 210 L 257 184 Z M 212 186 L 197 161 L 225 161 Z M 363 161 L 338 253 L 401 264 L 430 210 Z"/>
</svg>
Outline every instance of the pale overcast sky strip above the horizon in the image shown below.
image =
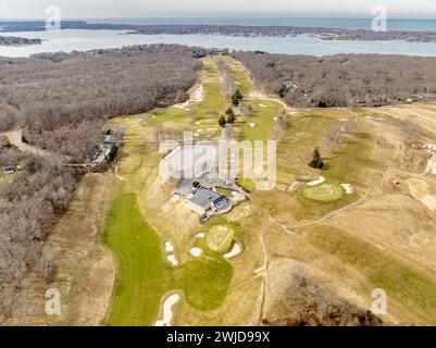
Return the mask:
<svg viewBox="0 0 436 348">
<path fill-rule="evenodd" d="M 385 5 L 400 17 L 436 17 L 436 0 L 0 0 L 2 18 L 43 18 L 48 5 L 64 18 L 155 16 L 371 16 Z"/>
</svg>

